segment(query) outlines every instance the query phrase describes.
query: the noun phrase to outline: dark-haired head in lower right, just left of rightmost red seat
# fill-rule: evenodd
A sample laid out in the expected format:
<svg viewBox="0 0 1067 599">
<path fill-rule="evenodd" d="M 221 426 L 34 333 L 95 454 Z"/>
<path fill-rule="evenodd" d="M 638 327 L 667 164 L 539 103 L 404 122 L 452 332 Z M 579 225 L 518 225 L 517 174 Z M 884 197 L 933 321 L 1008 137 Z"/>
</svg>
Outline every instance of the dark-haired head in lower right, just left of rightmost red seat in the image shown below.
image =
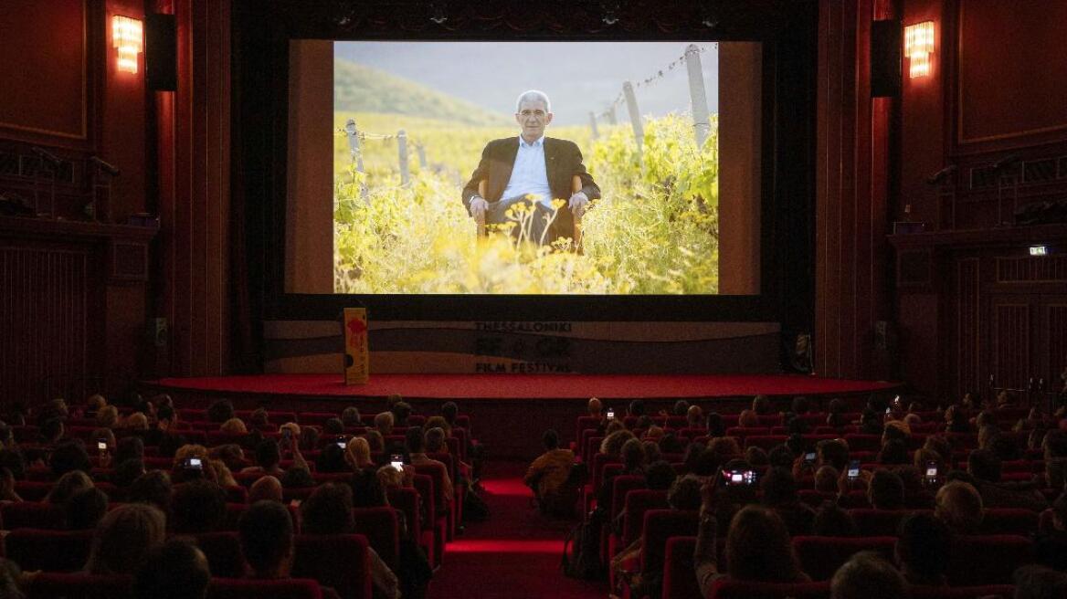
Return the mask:
<svg viewBox="0 0 1067 599">
<path fill-rule="evenodd" d="M 896 561 L 913 584 L 940 584 L 949 571 L 952 533 L 933 514 L 915 513 L 901 521 Z"/>
</svg>

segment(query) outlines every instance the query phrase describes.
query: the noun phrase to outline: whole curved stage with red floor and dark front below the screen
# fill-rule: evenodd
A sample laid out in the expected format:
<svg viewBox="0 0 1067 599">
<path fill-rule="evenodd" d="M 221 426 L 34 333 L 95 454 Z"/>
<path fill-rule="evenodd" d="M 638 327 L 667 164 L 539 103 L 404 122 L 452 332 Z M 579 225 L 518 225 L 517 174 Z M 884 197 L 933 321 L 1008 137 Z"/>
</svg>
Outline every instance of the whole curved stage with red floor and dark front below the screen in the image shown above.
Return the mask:
<svg viewBox="0 0 1067 599">
<path fill-rule="evenodd" d="M 346 386 L 336 374 L 262 374 L 161 378 L 145 385 L 149 391 L 172 394 L 179 407 L 205 407 L 228 398 L 239 408 L 266 404 L 277 409 L 340 412 L 352 404 L 373 412 L 384 407 L 388 395 L 398 393 L 416 412 L 437 414 L 443 402 L 455 401 L 461 412 L 471 415 L 474 436 L 492 456 L 523 459 L 539 453 L 546 428 L 556 428 L 564 440 L 571 440 L 575 418 L 594 395 L 619 409 L 641 399 L 650 414 L 669 409 L 681 399 L 728 414 L 744 409 L 757 394 L 770 396 L 785 409 L 794 395 L 807 395 L 824 405 L 832 398 L 862 402 L 872 392 L 899 387 L 785 374 L 375 374 L 366 385 L 353 386 Z"/>
</svg>

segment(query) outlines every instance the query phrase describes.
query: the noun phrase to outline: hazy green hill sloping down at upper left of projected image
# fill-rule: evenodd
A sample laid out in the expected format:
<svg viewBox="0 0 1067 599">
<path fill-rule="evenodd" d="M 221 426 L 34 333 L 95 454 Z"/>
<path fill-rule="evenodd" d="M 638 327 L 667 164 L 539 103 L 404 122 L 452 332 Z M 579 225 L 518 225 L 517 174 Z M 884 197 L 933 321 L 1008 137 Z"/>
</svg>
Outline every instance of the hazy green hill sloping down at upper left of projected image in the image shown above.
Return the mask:
<svg viewBox="0 0 1067 599">
<path fill-rule="evenodd" d="M 509 115 L 343 59 L 334 61 L 334 111 L 407 114 L 456 125 L 514 124 Z"/>
</svg>

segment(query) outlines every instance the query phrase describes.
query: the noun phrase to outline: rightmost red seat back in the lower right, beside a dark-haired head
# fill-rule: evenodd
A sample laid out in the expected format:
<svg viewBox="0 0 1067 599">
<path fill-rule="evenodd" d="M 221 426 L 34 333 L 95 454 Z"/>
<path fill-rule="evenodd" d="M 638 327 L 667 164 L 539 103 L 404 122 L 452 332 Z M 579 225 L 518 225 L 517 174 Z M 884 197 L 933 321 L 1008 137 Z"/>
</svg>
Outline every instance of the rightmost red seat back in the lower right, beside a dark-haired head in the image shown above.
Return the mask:
<svg viewBox="0 0 1067 599">
<path fill-rule="evenodd" d="M 958 536 L 953 541 L 949 584 L 1012 584 L 1015 569 L 1033 561 L 1033 543 L 1024 536 Z"/>
</svg>

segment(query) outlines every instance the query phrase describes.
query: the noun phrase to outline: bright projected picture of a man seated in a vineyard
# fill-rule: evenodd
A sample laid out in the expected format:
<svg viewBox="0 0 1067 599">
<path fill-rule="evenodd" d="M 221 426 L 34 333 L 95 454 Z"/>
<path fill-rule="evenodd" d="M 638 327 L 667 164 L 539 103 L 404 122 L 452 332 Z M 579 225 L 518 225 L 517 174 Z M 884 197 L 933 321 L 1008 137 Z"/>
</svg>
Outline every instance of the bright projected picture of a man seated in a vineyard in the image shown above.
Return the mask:
<svg viewBox="0 0 1067 599">
<path fill-rule="evenodd" d="M 719 291 L 714 43 L 334 43 L 334 291 Z"/>
</svg>

